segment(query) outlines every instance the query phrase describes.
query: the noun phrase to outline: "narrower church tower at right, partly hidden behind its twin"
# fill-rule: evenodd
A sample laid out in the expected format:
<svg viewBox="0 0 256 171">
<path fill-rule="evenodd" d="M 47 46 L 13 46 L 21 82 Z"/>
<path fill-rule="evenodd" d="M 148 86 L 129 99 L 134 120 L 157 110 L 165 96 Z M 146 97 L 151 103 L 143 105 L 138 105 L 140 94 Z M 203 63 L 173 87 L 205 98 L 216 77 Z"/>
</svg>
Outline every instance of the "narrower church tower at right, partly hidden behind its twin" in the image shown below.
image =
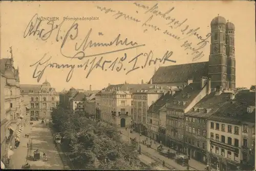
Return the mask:
<svg viewBox="0 0 256 171">
<path fill-rule="evenodd" d="M 228 89 L 236 89 L 236 59 L 234 58 L 234 24 L 226 24 L 226 54 Z"/>
</svg>

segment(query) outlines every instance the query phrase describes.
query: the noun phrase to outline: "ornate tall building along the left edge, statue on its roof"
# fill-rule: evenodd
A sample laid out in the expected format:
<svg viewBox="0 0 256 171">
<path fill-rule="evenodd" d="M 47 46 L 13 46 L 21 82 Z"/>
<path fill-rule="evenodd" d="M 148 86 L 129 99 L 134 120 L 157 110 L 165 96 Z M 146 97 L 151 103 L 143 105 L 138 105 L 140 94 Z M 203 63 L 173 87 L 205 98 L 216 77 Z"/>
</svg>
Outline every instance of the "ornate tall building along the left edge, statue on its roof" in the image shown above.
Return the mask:
<svg viewBox="0 0 256 171">
<path fill-rule="evenodd" d="M 22 104 L 19 88 L 19 70 L 11 58 L 0 60 L 1 68 L 1 161 L 7 164 L 8 151 L 14 147 L 25 126 L 26 108 Z"/>
</svg>

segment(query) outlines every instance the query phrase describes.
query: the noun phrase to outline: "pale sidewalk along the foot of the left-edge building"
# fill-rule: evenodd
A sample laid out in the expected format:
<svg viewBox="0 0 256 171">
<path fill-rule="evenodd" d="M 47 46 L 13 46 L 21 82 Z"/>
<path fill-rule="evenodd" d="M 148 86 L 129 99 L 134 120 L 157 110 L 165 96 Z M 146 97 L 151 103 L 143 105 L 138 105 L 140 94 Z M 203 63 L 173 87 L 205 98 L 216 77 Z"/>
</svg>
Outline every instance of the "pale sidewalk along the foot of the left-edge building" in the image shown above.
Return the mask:
<svg viewBox="0 0 256 171">
<path fill-rule="evenodd" d="M 14 154 L 11 156 L 9 168 L 12 169 L 21 169 L 22 165 L 26 164 L 27 162 L 27 155 L 28 155 L 28 147 L 27 143 L 29 143 L 29 138 L 25 137 L 25 134 L 30 135 L 33 125 L 27 124 L 23 126 L 23 132 L 20 134 L 19 137 L 19 146 L 18 148 L 13 148 Z"/>
</svg>

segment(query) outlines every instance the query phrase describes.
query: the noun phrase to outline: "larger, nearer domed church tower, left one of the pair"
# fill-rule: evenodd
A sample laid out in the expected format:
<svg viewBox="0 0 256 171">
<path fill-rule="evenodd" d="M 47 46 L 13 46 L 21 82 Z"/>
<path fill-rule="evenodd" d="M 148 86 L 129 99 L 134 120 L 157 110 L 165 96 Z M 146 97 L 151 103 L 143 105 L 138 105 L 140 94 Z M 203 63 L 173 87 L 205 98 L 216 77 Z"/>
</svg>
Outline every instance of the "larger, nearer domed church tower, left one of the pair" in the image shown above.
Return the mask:
<svg viewBox="0 0 256 171">
<path fill-rule="evenodd" d="M 226 55 L 226 19 L 217 16 L 212 19 L 210 56 L 208 62 L 208 76 L 211 87 L 227 89 L 227 55 Z"/>
</svg>

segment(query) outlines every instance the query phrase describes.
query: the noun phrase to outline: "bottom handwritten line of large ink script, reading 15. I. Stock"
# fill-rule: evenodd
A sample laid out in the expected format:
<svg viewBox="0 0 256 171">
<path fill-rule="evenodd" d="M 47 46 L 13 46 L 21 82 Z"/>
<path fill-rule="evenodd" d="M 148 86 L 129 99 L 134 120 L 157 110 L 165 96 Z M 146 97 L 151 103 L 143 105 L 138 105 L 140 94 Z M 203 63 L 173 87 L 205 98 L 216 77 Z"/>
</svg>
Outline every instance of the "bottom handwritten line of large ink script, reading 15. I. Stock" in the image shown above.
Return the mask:
<svg viewBox="0 0 256 171">
<path fill-rule="evenodd" d="M 85 72 L 86 78 L 92 73 L 94 69 L 101 69 L 102 71 L 124 71 L 125 74 L 129 74 L 138 69 L 144 69 L 148 66 L 155 65 L 157 62 L 165 63 L 165 62 L 176 62 L 175 60 L 170 59 L 173 55 L 172 51 L 166 51 L 161 57 L 155 57 L 153 51 L 140 53 L 136 56 L 129 56 L 124 53 L 123 56 L 116 57 L 113 60 L 105 60 L 103 56 L 94 57 L 94 58 L 86 58 L 83 63 L 78 65 L 68 64 L 68 63 L 56 63 L 50 62 L 52 56 L 47 57 L 45 54 L 41 59 L 30 65 L 30 67 L 34 67 L 33 78 L 37 78 L 39 82 L 42 75 L 47 68 L 55 68 L 55 69 L 68 69 L 68 75 L 66 81 L 69 82 L 72 78 L 73 72 L 75 69 L 81 69 Z M 142 60 L 141 60 L 142 59 Z M 142 62 L 138 62 L 138 60 Z M 142 65 L 141 65 L 142 63 Z"/>
</svg>

